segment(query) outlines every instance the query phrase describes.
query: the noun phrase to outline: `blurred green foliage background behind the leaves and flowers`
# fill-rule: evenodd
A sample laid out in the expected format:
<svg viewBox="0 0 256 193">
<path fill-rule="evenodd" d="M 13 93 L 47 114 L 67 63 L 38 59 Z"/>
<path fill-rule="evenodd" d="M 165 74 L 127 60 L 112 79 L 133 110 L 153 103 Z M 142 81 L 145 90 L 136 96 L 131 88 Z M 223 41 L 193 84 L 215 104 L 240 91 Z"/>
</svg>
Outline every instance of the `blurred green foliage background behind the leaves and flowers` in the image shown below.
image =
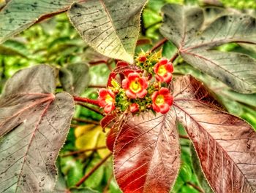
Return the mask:
<svg viewBox="0 0 256 193">
<path fill-rule="evenodd" d="M 160 9 L 168 2 L 199 5 L 203 7 L 206 11 L 206 22 L 214 20 L 215 17 L 219 17 L 219 15 L 225 12 L 246 12 L 256 17 L 255 0 L 149 0 L 146 8 L 143 9 L 141 18 L 142 29 L 139 38 L 146 39 L 147 41 L 146 44 L 138 45 L 136 55 L 141 49 L 146 51 L 150 49 L 154 43 L 159 41 L 159 39 L 162 39 L 161 34 L 159 34 L 159 26 L 162 21 Z M 243 52 L 256 59 L 255 46 L 225 44 L 216 49 L 224 52 Z M 170 58 L 175 52 L 176 48 L 170 42 L 164 45 L 163 55 L 165 57 Z M 58 69 L 65 68 L 71 63 L 90 63 L 98 59 L 102 60 L 102 55 L 91 50 L 83 42 L 80 36 L 78 36 L 77 31 L 75 31 L 75 28 L 70 25 L 67 15 L 57 15 L 51 19 L 33 25 L 20 35 L 0 45 L 0 90 L 4 87 L 4 82 L 6 82 L 15 71 L 21 68 L 47 63 L 57 69 L 56 76 L 58 76 Z M 111 66 L 113 67 L 114 63 L 110 58 L 103 59 L 110 61 L 110 66 L 105 65 L 105 63 L 90 66 L 89 76 L 91 82 L 89 82 L 88 88 L 83 91 L 82 96 L 95 99 L 97 98 L 97 88 L 94 86 L 97 85 L 101 87 L 106 84 L 110 68 Z M 234 92 L 216 79 L 197 71 L 197 69 L 185 63 L 181 58 L 178 58 L 174 65 L 175 76 L 192 74 L 197 79 L 200 79 L 217 95 L 219 102 L 225 106 L 227 111 L 245 119 L 256 128 L 256 94 L 244 95 Z M 57 82 L 58 92 L 62 90 L 62 87 L 58 79 Z M 99 120 L 102 119 L 102 115 L 83 106 L 77 106 L 75 118 L 76 119 L 72 121 L 72 127 L 67 137 L 67 142 L 61 150 L 58 159 L 60 176 L 58 186 L 60 187 L 67 186 L 70 188 L 75 186 L 85 173 L 88 173 L 91 168 L 109 154 L 107 149 L 102 149 L 102 147 L 105 146 L 105 133 L 102 132 L 102 128 L 99 126 Z M 181 136 L 187 135 L 184 128 L 181 126 L 179 130 Z M 211 192 L 207 187 L 206 181 L 203 181 L 203 178 L 198 180 L 195 175 L 195 171 L 198 171 L 193 170 L 192 163 L 194 163 L 195 167 L 198 167 L 198 165 L 196 160 L 191 159 L 193 152 L 191 151 L 190 145 L 186 137 L 181 138 L 181 170 L 179 171 L 172 192 L 200 192 L 202 186 L 206 192 Z M 73 151 L 94 148 L 100 149 L 83 153 L 78 152 L 68 156 L 68 154 Z M 193 155 L 195 158 L 195 154 Z M 111 159 L 100 166 L 82 186 L 94 189 L 96 192 L 121 192 L 113 178 Z M 58 192 L 58 189 L 56 189 L 56 192 Z"/>
</svg>

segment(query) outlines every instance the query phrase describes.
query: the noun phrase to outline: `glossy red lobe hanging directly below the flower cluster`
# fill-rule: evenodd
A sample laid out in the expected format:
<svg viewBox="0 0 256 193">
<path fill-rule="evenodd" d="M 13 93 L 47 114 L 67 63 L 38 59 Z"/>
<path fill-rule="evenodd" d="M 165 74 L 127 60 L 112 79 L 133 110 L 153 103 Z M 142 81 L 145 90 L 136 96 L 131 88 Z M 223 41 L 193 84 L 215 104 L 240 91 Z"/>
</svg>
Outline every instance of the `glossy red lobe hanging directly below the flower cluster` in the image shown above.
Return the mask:
<svg viewBox="0 0 256 193">
<path fill-rule="evenodd" d="M 170 192 L 180 165 L 174 111 L 129 115 L 113 154 L 116 181 L 124 193 Z"/>
</svg>

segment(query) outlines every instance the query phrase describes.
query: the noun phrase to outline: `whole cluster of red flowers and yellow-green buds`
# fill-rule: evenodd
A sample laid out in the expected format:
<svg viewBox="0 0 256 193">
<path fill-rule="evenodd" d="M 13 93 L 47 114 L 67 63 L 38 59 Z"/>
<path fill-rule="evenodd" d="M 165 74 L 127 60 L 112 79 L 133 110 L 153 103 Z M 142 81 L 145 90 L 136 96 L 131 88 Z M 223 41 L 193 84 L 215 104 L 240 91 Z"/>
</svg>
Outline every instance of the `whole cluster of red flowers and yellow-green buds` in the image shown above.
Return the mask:
<svg viewBox="0 0 256 193">
<path fill-rule="evenodd" d="M 173 64 L 160 57 L 159 52 L 152 55 L 143 52 L 135 61 L 141 70 L 126 71 L 119 82 L 112 78 L 108 88 L 99 90 L 99 106 L 106 114 L 146 110 L 166 114 L 173 104 L 173 96 L 167 88 L 173 78 Z"/>
</svg>

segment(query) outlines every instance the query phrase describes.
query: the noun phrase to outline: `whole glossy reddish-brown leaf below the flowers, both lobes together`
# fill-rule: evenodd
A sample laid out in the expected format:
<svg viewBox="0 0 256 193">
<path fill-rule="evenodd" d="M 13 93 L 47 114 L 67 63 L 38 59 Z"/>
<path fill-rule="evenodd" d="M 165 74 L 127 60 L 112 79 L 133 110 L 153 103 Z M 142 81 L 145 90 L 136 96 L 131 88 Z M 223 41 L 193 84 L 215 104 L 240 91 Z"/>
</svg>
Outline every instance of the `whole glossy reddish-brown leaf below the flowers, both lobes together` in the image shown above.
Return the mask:
<svg viewBox="0 0 256 193">
<path fill-rule="evenodd" d="M 176 79 L 170 90 L 174 102 L 167 114 L 146 112 L 115 120 L 112 129 L 118 134 L 108 142 L 116 138 L 114 170 L 123 192 L 170 191 L 180 162 L 177 121 L 186 128 L 214 192 L 255 192 L 256 133 L 252 127 L 225 112 L 192 76 Z"/>
</svg>

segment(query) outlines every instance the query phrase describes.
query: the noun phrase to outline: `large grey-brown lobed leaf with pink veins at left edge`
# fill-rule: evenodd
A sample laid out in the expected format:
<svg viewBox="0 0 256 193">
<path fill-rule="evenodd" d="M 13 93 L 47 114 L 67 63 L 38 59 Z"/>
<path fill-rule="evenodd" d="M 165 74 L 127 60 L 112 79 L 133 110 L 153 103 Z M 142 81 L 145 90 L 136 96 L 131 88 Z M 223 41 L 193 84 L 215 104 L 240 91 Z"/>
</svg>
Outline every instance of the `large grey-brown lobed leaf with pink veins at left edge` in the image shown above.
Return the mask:
<svg viewBox="0 0 256 193">
<path fill-rule="evenodd" d="M 53 69 L 45 65 L 19 71 L 8 80 L 0 98 L 2 192 L 53 190 L 56 157 L 74 111 L 72 96 L 53 95 L 54 90 Z"/>
</svg>

